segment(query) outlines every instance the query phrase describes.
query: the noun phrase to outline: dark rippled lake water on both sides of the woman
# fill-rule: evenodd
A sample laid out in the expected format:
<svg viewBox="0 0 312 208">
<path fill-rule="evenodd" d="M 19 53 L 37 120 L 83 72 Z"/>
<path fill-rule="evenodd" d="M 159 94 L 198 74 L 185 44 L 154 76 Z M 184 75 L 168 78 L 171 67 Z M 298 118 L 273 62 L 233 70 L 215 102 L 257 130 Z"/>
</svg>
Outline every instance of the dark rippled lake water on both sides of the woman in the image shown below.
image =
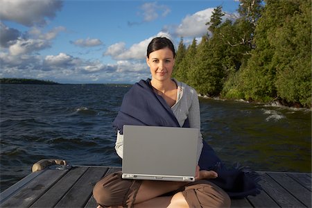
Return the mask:
<svg viewBox="0 0 312 208">
<path fill-rule="evenodd" d="M 1 85 L 1 191 L 44 158 L 121 166 L 116 116 L 127 85 Z M 311 110 L 200 98 L 201 131 L 227 166 L 311 173 Z"/>
</svg>

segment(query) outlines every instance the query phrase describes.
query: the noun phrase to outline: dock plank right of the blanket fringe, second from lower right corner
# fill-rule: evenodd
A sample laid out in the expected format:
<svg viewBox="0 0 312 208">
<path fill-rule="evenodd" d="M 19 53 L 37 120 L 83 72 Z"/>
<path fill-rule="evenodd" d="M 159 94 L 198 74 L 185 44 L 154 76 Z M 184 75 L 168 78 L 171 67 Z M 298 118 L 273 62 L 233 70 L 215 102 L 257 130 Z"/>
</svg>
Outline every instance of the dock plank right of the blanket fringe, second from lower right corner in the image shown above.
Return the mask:
<svg viewBox="0 0 312 208">
<path fill-rule="evenodd" d="M 267 174 L 261 174 L 261 179 L 262 188 L 280 207 L 304 207 L 302 202 L 281 187 L 272 177 L 269 177 Z"/>
</svg>

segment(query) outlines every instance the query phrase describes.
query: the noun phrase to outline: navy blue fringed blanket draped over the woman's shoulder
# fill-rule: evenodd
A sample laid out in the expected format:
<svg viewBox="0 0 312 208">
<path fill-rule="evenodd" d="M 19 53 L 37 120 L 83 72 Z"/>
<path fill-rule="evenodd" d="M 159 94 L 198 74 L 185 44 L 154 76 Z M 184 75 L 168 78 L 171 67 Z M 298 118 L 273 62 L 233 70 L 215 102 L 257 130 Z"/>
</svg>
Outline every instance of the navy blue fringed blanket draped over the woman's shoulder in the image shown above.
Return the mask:
<svg viewBox="0 0 312 208">
<path fill-rule="evenodd" d="M 123 134 L 123 125 L 153 125 L 180 127 L 171 107 L 150 85 L 150 79 L 135 83 L 123 97 L 121 109 L 113 122 L 116 130 Z M 189 127 L 188 119 L 182 127 Z M 213 170 L 218 173 L 210 182 L 225 190 L 232 198 L 255 196 L 260 193 L 259 175 L 247 168 L 236 166 L 226 168 L 214 150 L 202 140 L 203 148 L 198 165 L 200 170 Z"/>
</svg>

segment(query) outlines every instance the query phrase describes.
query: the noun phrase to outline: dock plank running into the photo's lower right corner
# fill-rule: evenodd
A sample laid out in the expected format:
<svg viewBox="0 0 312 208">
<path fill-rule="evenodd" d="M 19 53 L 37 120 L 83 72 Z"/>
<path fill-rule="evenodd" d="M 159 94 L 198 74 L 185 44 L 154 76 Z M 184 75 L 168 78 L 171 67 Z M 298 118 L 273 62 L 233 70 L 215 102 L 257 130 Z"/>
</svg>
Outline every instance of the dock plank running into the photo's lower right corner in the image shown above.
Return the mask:
<svg viewBox="0 0 312 208">
<path fill-rule="evenodd" d="M 268 173 L 281 187 L 284 187 L 295 198 L 300 200 L 306 207 L 311 207 L 311 191 L 305 189 L 302 184 L 289 177 L 286 173 Z"/>
</svg>

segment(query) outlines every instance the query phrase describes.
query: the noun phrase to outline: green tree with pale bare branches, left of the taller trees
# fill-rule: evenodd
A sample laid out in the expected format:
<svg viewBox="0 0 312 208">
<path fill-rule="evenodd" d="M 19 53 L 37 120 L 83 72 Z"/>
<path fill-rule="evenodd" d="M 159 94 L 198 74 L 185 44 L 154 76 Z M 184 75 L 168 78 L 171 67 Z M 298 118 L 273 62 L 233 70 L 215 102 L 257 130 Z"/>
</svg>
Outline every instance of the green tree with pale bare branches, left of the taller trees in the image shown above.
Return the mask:
<svg viewBox="0 0 312 208">
<path fill-rule="evenodd" d="M 223 96 L 231 98 L 242 96 L 242 93 L 238 93 L 239 90 L 236 90 L 234 94 L 229 94 L 229 92 L 233 93 L 232 89 L 239 84 L 237 80 L 239 70 L 248 61 L 250 51 L 254 48 L 252 45 L 254 28 L 261 16 L 261 9 L 261 0 L 242 0 L 238 10 L 239 19 L 234 22 L 227 19 L 223 24 L 213 27 L 214 36 L 210 42 L 214 50 L 218 51 L 219 61 L 222 64 L 222 69 L 219 70 L 222 71 L 220 74 L 223 74 Z M 218 10 L 217 13 L 220 14 L 220 12 Z"/>
</svg>

